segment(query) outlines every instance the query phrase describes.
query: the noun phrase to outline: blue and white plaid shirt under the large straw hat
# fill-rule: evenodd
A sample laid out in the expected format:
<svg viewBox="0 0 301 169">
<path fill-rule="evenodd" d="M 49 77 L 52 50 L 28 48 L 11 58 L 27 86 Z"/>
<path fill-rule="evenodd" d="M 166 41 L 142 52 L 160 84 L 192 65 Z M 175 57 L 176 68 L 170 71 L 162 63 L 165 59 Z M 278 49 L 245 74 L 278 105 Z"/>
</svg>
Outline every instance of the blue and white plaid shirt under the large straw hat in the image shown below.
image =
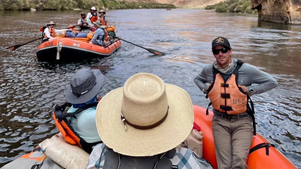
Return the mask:
<svg viewBox="0 0 301 169">
<path fill-rule="evenodd" d="M 103 148 L 104 143 L 98 144 L 94 147 L 89 156 L 85 169 L 97 169 L 100 159 L 99 156 Z M 104 156 L 106 152 L 107 149 L 104 150 L 104 153 L 101 156 L 99 169 L 102 169 L 102 167 L 104 166 Z M 172 162 L 172 168 L 176 169 L 213 169 L 210 165 L 201 164 L 197 160 L 197 158 L 195 158 L 191 150 L 186 148 L 176 149 L 174 158 L 171 158 L 169 160 Z"/>
</svg>

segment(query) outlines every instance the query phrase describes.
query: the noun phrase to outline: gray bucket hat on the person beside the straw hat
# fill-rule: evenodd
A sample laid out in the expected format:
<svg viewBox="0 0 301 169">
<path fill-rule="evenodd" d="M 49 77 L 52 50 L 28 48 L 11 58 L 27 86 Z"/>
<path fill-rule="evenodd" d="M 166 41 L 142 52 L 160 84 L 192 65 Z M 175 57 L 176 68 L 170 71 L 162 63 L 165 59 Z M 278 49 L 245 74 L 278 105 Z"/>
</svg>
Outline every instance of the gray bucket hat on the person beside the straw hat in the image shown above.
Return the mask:
<svg viewBox="0 0 301 169">
<path fill-rule="evenodd" d="M 81 104 L 93 99 L 104 83 L 104 78 L 99 69 L 80 69 L 70 79 L 66 92 L 67 101 Z"/>
</svg>

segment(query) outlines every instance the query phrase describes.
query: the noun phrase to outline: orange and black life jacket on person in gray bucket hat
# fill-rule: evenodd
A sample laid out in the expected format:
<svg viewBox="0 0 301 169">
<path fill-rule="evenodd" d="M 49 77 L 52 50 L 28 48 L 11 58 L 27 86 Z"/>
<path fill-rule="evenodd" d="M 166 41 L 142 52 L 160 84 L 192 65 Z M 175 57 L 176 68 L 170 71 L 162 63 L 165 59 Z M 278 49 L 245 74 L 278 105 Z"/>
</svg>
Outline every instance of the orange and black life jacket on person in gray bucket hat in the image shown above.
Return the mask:
<svg viewBox="0 0 301 169">
<path fill-rule="evenodd" d="M 83 107 L 80 107 L 75 112 L 72 113 L 64 113 L 64 110 L 66 107 L 71 107 L 71 103 L 64 103 L 61 106 L 56 105 L 54 112 L 52 113 L 52 117 L 54 119 L 55 125 L 57 129 L 61 132 L 61 134 L 64 137 L 64 140 L 67 141 L 70 144 L 77 144 L 79 147 L 81 147 L 83 150 L 85 150 L 87 153 L 92 152 L 92 147 L 96 146 L 99 143 L 103 143 L 102 141 L 96 142 L 96 143 L 87 143 L 84 139 L 82 139 L 76 131 L 72 128 L 71 123 L 68 121 L 67 117 L 73 117 L 76 118 L 76 114 L 81 113 L 82 111 L 89 109 L 93 106 L 97 106 L 98 102 L 100 101 L 101 97 L 97 98 L 97 102 L 89 105 L 85 105 Z"/>
</svg>

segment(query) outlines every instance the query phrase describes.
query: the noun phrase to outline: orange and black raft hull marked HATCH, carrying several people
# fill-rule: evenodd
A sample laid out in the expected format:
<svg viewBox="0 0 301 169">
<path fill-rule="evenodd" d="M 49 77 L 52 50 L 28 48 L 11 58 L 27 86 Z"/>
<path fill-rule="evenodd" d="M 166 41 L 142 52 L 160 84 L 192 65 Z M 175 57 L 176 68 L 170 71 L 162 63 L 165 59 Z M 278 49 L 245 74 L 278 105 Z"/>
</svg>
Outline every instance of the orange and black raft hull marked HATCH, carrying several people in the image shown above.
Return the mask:
<svg viewBox="0 0 301 169">
<path fill-rule="evenodd" d="M 111 39 L 104 46 L 88 43 L 87 38 L 51 38 L 36 50 L 39 60 L 43 61 L 73 61 L 93 57 L 105 57 L 120 48 L 120 40 Z"/>
</svg>

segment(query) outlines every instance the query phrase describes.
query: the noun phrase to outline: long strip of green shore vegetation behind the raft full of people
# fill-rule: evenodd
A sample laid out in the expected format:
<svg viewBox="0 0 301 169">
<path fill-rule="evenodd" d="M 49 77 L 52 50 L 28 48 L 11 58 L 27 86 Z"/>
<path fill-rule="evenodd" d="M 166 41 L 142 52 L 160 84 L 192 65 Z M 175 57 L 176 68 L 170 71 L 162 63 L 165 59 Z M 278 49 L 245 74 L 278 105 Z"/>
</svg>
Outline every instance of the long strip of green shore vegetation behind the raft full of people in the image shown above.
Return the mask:
<svg viewBox="0 0 301 169">
<path fill-rule="evenodd" d="M 108 9 L 138 9 L 140 8 L 176 8 L 171 4 L 150 2 L 129 2 L 116 0 L 1 0 L 1 11 L 15 10 L 73 10 L 96 8 Z"/>
</svg>

